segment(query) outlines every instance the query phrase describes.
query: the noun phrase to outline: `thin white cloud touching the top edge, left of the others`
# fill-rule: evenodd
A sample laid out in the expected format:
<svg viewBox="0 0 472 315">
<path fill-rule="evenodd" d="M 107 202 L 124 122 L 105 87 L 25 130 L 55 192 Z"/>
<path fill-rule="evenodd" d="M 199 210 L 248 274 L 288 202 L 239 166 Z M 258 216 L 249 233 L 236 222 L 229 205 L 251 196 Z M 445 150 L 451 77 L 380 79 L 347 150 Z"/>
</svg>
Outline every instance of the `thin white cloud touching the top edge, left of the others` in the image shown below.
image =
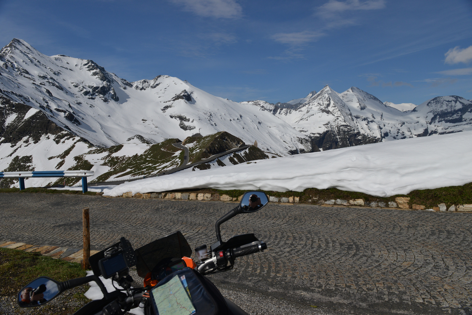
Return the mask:
<svg viewBox="0 0 472 315">
<path fill-rule="evenodd" d="M 170 0 L 183 5 L 184 10 L 201 17 L 237 18 L 243 14 L 243 8 L 236 0 Z"/>
</svg>

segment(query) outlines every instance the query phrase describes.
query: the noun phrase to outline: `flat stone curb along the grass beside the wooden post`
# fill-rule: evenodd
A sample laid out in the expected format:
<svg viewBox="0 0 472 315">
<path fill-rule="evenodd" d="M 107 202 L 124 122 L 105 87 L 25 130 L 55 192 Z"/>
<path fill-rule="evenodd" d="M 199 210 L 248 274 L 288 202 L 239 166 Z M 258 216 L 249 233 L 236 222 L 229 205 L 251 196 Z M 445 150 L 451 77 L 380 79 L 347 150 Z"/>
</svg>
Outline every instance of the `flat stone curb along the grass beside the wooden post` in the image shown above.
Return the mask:
<svg viewBox="0 0 472 315">
<path fill-rule="evenodd" d="M 79 248 L 68 248 L 50 245 L 38 246 L 6 240 L 0 240 L 0 248 L 23 250 L 27 253 L 39 253 L 41 255 L 49 256 L 54 259 L 62 259 L 79 264 L 84 258 L 84 250 Z M 96 254 L 98 252 L 98 250 L 91 250 L 90 255 L 92 256 L 93 254 Z"/>
</svg>

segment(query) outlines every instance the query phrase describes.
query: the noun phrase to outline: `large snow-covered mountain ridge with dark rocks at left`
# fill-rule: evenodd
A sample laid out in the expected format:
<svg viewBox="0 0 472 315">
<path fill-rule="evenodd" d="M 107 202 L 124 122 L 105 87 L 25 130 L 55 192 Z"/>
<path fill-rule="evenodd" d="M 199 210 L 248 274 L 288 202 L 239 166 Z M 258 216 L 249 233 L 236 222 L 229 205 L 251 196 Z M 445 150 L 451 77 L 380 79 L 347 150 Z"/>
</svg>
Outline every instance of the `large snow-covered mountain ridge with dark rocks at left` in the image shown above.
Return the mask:
<svg viewBox="0 0 472 315">
<path fill-rule="evenodd" d="M 90 143 L 159 143 L 227 131 L 267 152 L 310 152 L 310 139 L 253 104 L 208 94 L 176 77 L 128 82 L 92 60 L 46 56 L 23 40 L 0 51 L 0 95 L 46 114 Z"/>
</svg>

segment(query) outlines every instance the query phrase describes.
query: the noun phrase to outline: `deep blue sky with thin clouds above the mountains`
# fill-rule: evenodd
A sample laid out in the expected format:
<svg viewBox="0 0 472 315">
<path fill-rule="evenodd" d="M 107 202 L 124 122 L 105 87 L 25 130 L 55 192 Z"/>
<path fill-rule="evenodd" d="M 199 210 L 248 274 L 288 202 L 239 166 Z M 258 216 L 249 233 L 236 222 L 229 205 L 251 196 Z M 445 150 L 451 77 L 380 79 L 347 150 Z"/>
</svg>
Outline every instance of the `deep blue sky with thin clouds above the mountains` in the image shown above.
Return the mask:
<svg viewBox="0 0 472 315">
<path fill-rule="evenodd" d="M 170 75 L 241 102 L 328 84 L 382 102 L 472 99 L 470 0 L 0 0 L 0 45 Z"/>
</svg>

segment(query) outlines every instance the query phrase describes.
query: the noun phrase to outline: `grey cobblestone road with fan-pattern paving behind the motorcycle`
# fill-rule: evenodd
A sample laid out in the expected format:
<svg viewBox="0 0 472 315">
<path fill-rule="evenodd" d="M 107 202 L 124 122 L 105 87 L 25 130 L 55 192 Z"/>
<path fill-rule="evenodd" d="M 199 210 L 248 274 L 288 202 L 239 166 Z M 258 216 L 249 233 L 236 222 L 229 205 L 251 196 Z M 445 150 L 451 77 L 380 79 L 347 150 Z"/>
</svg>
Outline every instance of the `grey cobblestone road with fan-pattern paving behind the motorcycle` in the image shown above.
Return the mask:
<svg viewBox="0 0 472 315">
<path fill-rule="evenodd" d="M 82 208 L 90 207 L 92 249 L 121 236 L 137 248 L 176 230 L 192 248 L 210 246 L 216 241 L 214 222 L 234 206 L 1 194 L 0 239 L 80 248 Z M 222 287 L 316 305 L 320 311 L 469 314 L 471 223 L 471 213 L 268 204 L 224 223 L 221 232 L 223 239 L 254 232 L 269 249 L 210 277 Z"/>
</svg>

